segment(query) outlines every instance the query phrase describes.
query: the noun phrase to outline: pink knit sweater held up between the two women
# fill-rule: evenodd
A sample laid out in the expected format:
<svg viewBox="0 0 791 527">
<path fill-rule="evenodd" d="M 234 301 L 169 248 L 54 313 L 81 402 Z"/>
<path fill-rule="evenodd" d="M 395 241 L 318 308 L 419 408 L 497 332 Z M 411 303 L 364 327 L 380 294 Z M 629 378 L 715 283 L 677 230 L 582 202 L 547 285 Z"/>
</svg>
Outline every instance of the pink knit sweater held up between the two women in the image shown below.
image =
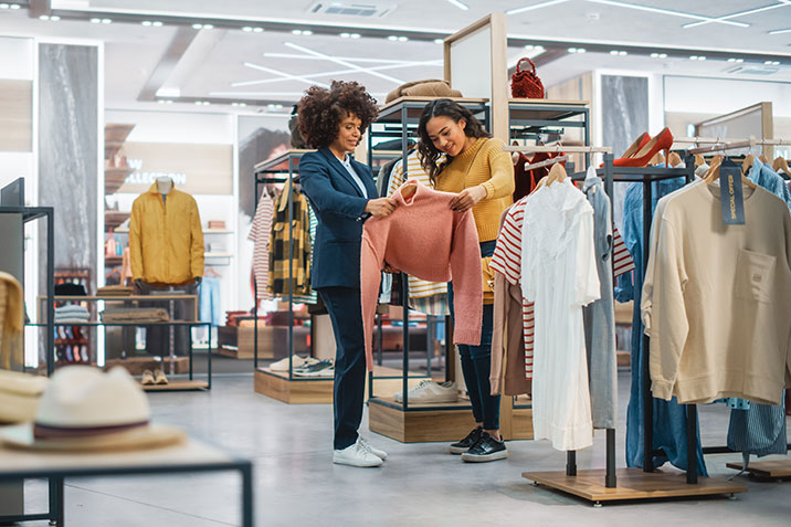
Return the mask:
<svg viewBox="0 0 791 527">
<path fill-rule="evenodd" d="M 409 185 L 416 185 L 418 190 L 405 199 L 402 191 Z M 360 287 L 369 370 L 373 368 L 372 325 L 386 262 L 430 282 L 453 280 L 453 341 L 473 346 L 481 344 L 481 247 L 472 210 L 452 210 L 454 196 L 432 190 L 412 179 L 392 196 L 399 202 L 392 214 L 371 218 L 362 228 Z"/>
</svg>

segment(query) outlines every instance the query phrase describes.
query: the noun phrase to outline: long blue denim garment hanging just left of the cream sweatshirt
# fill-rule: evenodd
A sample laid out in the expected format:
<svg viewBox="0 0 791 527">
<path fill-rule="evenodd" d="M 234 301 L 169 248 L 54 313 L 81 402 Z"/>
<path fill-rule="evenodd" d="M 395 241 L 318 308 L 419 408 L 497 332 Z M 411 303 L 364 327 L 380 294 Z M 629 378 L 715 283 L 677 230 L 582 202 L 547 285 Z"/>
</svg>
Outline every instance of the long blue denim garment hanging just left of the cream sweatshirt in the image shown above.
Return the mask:
<svg viewBox="0 0 791 527">
<path fill-rule="evenodd" d="M 663 167 L 664 165 L 660 165 Z M 660 198 L 682 188 L 684 178 L 665 179 L 651 183 L 652 211 Z M 634 301 L 632 314 L 632 386 L 626 410 L 626 466 L 643 466 L 643 324 L 640 317 L 640 297 L 643 291 L 643 183 L 632 183 L 626 189 L 623 204 L 623 241 L 634 260 L 634 271 L 618 278 L 615 299 Z M 669 401 L 653 399 L 654 450 L 665 455 L 654 456 L 654 466 L 669 461 L 675 467 L 687 468 L 686 411 L 676 398 Z M 707 476 L 703 459 L 700 432 L 697 440 L 697 471 Z"/>
</svg>

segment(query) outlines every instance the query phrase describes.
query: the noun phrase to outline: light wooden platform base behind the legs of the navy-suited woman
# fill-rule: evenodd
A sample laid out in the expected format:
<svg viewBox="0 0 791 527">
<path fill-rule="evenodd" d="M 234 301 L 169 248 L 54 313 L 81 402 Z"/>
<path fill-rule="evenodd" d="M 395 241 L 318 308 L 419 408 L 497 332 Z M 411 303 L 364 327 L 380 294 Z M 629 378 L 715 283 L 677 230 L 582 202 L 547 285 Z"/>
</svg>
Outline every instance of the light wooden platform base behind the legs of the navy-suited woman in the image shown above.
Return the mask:
<svg viewBox="0 0 791 527">
<path fill-rule="evenodd" d="M 373 367 L 375 377 L 400 377 L 401 370 Z M 409 387 L 415 387 L 425 376 L 410 373 Z M 333 377 L 302 377 L 288 379 L 287 371 L 271 371 L 259 368 L 255 372 L 255 392 L 289 404 L 329 404 L 333 402 Z M 373 396 L 393 394 L 401 390 L 401 379 L 375 379 Z M 366 377 L 366 398 L 368 378 Z"/>
</svg>

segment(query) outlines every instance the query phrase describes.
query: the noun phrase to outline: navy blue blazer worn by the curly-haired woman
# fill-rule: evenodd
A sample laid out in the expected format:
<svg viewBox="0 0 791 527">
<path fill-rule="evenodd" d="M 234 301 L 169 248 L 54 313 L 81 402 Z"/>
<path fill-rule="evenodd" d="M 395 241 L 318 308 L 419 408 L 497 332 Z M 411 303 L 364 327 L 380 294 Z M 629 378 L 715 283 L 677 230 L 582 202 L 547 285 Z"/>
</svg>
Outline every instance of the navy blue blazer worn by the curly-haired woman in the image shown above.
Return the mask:
<svg viewBox="0 0 791 527">
<path fill-rule="evenodd" d="M 313 243 L 310 285 L 360 287 L 362 221 L 369 199 L 378 198 L 371 169 L 351 161 L 366 186 L 366 198 L 349 171 L 329 148 L 305 154 L 299 160 L 299 182 L 318 218 Z"/>
</svg>

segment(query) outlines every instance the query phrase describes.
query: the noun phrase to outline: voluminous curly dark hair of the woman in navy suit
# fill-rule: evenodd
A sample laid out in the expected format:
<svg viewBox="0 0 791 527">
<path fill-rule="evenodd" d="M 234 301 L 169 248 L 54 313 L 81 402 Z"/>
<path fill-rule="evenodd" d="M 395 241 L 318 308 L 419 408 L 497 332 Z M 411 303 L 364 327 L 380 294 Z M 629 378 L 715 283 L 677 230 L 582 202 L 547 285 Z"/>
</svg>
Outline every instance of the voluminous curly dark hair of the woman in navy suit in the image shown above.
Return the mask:
<svg viewBox="0 0 791 527">
<path fill-rule="evenodd" d="M 366 87 L 356 82 L 333 81 L 329 89 L 310 86 L 298 105 L 299 133 L 312 148 L 324 148 L 338 137 L 340 122 L 355 114 L 368 128 L 379 108 Z"/>
</svg>

